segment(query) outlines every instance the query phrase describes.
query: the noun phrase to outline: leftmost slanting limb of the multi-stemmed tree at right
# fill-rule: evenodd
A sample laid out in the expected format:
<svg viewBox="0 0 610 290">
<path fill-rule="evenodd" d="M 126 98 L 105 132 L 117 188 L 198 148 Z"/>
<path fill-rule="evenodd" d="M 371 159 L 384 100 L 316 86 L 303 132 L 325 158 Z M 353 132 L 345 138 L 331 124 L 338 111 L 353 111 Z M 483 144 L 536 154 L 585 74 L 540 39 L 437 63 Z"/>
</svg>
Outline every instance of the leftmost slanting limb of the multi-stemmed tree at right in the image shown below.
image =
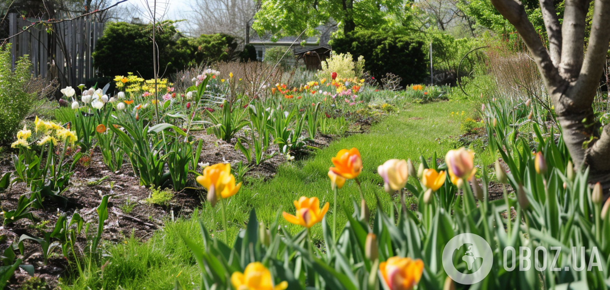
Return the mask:
<svg viewBox="0 0 610 290">
<path fill-rule="evenodd" d="M 529 22 L 523 4 L 518 0 L 491 0 L 493 6 L 503 15 L 523 38 L 523 42 L 532 54 L 534 61 L 538 65 L 542 79 L 549 92 L 553 92 L 564 81 L 559 76 L 559 71 L 553 65 L 547 49 L 540 42 L 540 38 L 534 26 Z"/>
</svg>

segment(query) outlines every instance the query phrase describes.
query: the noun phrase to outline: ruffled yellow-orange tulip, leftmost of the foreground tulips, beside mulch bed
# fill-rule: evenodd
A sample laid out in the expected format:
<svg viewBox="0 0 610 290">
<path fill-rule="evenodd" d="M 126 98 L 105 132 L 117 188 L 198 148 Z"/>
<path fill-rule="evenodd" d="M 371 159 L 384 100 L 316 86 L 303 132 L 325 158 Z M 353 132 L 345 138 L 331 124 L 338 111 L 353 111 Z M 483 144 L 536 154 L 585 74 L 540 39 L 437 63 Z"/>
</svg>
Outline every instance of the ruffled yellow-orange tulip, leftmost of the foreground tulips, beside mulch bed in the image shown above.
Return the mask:
<svg viewBox="0 0 610 290">
<path fill-rule="evenodd" d="M 220 193 L 222 198 L 232 197 L 242 186 L 242 183 L 235 185 L 235 176 L 231 174 L 231 164 L 228 163 L 218 163 L 206 167 L 203 175 L 197 176 L 197 183 L 206 187 L 208 194 Z"/>
</svg>

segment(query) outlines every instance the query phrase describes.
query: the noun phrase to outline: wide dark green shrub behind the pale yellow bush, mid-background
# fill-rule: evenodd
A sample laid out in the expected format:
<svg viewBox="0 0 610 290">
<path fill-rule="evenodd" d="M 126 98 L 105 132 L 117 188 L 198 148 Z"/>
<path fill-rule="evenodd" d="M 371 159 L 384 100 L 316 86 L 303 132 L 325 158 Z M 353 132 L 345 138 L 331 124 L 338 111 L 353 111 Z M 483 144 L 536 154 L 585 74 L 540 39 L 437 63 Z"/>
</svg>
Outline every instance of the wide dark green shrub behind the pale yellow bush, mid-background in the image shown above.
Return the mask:
<svg viewBox="0 0 610 290">
<path fill-rule="evenodd" d="M 331 42 L 337 53 L 364 56 L 364 69 L 376 79 L 386 73 L 397 74 L 401 85 L 417 84 L 428 79 L 426 45 L 403 34 L 382 31 L 354 31 Z M 354 59 L 356 60 L 356 59 Z"/>
</svg>

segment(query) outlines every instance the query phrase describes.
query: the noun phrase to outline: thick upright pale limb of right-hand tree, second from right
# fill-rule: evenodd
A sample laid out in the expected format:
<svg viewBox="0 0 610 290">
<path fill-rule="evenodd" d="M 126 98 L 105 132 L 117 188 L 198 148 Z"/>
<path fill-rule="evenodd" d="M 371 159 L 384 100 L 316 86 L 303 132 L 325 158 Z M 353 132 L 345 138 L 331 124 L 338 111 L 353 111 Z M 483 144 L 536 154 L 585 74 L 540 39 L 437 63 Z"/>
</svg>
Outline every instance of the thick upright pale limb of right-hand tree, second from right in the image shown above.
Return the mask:
<svg viewBox="0 0 610 290">
<path fill-rule="evenodd" d="M 565 1 L 559 74 L 568 81 L 575 81 L 583 66 L 584 20 L 587 15 L 587 3 L 587 0 Z"/>
</svg>

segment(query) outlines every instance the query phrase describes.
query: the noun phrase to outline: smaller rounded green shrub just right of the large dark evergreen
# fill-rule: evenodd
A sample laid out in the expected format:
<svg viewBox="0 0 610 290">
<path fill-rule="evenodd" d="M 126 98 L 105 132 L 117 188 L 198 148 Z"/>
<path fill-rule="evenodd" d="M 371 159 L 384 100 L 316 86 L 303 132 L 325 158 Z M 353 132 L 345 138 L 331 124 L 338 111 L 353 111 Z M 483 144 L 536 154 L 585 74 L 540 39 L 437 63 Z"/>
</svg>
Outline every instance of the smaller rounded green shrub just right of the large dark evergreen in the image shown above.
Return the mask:
<svg viewBox="0 0 610 290">
<path fill-rule="evenodd" d="M 188 64 L 199 65 L 233 59 L 237 42 L 234 36 L 228 34 L 202 34 L 197 38 L 180 38 L 178 46 L 188 53 Z M 256 51 L 254 53 L 256 60 Z"/>
</svg>

